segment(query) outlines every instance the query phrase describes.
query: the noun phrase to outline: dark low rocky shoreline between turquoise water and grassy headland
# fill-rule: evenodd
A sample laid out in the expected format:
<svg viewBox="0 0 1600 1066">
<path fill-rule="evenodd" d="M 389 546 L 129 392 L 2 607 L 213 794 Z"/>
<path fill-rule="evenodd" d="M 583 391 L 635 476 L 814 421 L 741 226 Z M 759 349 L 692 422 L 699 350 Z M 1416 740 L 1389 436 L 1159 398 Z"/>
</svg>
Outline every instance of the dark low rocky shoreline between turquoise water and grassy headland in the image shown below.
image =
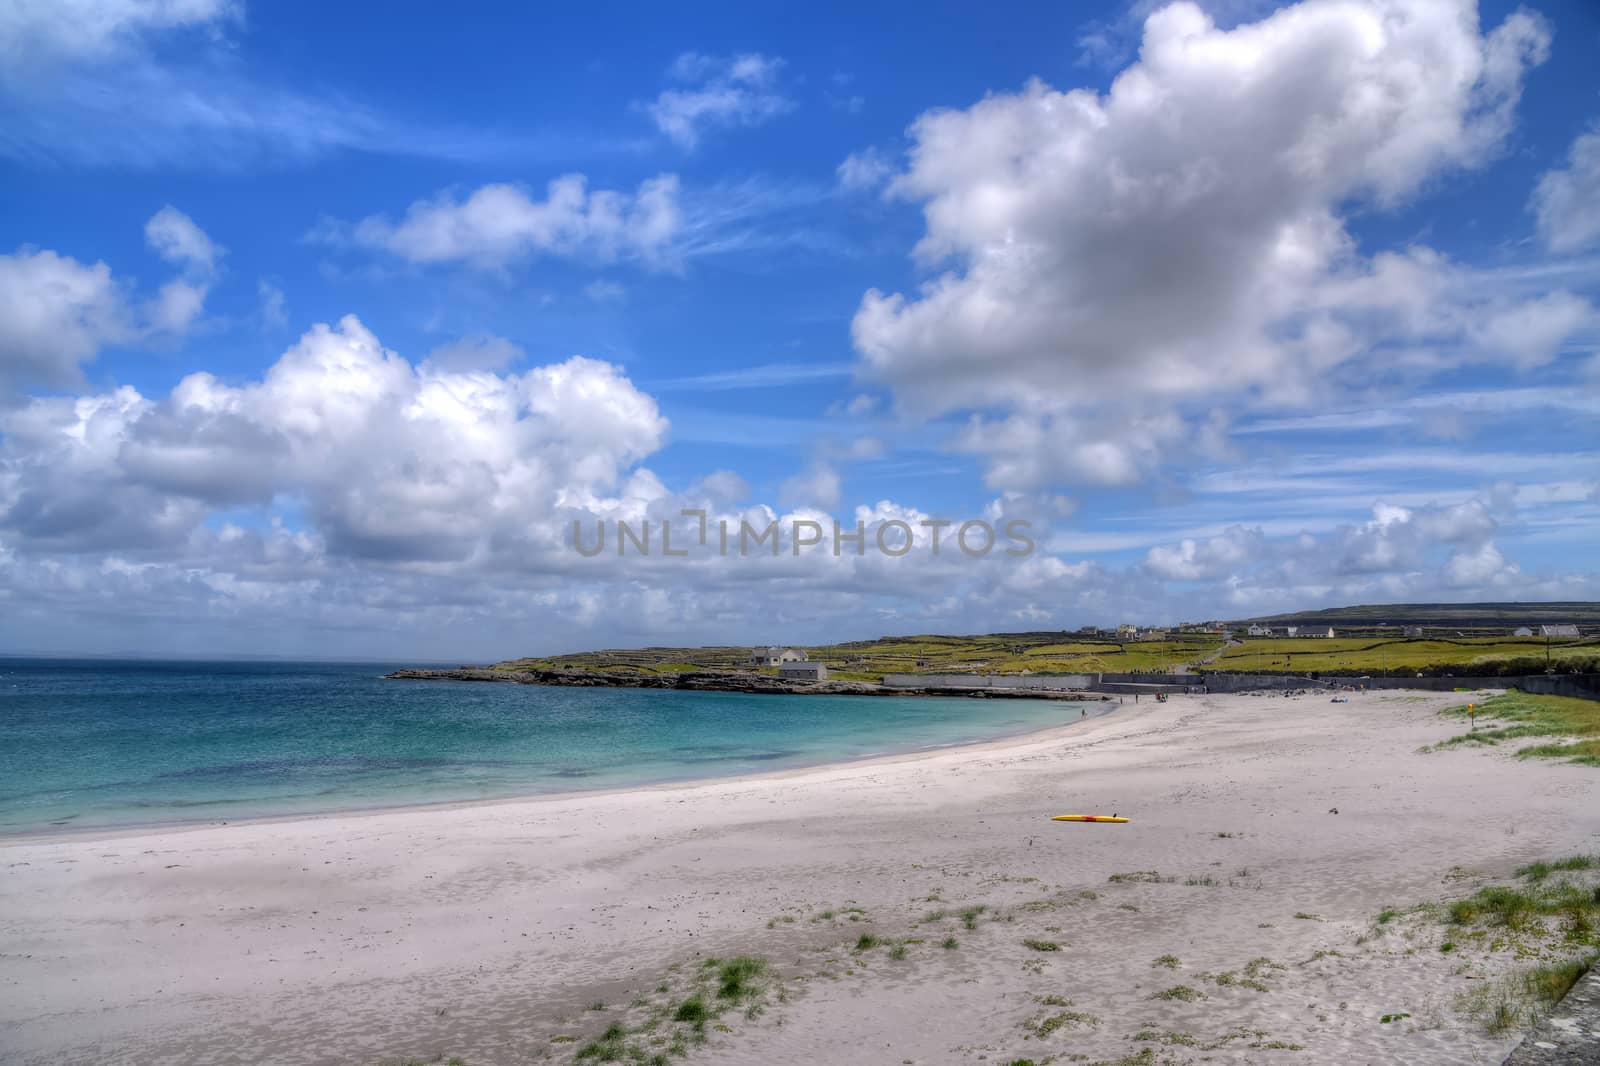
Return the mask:
<svg viewBox="0 0 1600 1066">
<path fill-rule="evenodd" d="M 685 691 L 739 691 L 770 696 L 968 696 L 973 699 L 1106 699 L 1086 691 L 995 688 L 885 688 L 874 682 L 786 680 L 742 671 L 683 671 L 682 674 L 600 674 L 594 671 L 496 671 L 464 666 L 448 671 L 405 669 L 386 674 L 395 680 L 499 682 L 507 685 L 565 685 L 570 688 L 678 688 Z"/>
</svg>

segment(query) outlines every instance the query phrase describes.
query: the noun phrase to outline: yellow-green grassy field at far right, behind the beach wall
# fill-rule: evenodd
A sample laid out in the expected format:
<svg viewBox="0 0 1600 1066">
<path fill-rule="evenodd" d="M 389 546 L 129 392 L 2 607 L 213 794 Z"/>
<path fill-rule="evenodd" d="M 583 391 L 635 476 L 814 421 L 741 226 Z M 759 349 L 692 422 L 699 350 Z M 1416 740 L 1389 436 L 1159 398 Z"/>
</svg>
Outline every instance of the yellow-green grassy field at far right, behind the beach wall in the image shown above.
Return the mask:
<svg viewBox="0 0 1600 1066">
<path fill-rule="evenodd" d="M 1594 669 L 1600 659 L 1600 640 L 1560 640 L 1550 643 L 1550 664 L 1558 671 Z M 1373 637 L 1304 637 L 1246 639 L 1230 647 L 1208 667 L 1218 671 L 1290 671 L 1414 674 L 1443 667 L 1485 674 L 1542 672 L 1546 647 L 1541 637 L 1464 637 L 1464 639 L 1373 639 Z"/>
</svg>

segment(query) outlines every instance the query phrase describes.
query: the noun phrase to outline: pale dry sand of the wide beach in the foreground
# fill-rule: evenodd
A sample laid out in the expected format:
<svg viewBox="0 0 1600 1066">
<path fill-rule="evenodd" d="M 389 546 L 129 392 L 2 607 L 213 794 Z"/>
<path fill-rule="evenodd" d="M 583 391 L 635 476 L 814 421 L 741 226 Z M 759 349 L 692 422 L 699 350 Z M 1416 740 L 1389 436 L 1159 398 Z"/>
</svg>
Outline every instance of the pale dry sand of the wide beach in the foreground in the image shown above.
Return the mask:
<svg viewBox="0 0 1600 1066">
<path fill-rule="evenodd" d="M 691 786 L 14 839 L 0 1060 L 568 1061 L 579 1044 L 552 1036 L 587 1039 L 664 976 L 754 952 L 789 978 L 786 1002 L 728 1015 L 690 1063 L 1144 1047 L 1157 1063 L 1498 1063 L 1517 1037 L 1485 1036 L 1454 1002 L 1512 960 L 1440 954 L 1427 922 L 1373 936 L 1374 917 L 1600 850 L 1600 771 L 1419 754 L 1461 731 L 1435 714 L 1459 701 L 1179 696 L 997 744 Z M 1046 820 L 1112 810 L 1131 824 Z M 1109 880 L 1133 871 L 1166 880 Z M 920 924 L 978 904 L 973 930 Z M 853 956 L 862 930 L 923 943 Z M 950 935 L 960 946 L 941 948 Z M 1258 965 L 1267 991 L 1202 976 L 1258 957 L 1285 967 Z M 1152 997 L 1174 984 L 1206 999 Z M 1048 996 L 1096 1024 L 1030 1036 L 1062 1010 Z M 597 1000 L 610 1010 L 584 1010 Z"/>
</svg>

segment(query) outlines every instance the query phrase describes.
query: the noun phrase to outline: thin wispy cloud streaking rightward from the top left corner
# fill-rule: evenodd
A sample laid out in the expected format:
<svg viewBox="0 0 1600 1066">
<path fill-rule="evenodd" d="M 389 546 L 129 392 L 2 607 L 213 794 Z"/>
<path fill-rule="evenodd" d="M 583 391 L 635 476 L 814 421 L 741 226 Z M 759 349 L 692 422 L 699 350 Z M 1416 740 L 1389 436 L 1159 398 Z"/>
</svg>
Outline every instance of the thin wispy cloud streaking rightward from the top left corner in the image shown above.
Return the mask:
<svg viewBox="0 0 1600 1066">
<path fill-rule="evenodd" d="M 0 155 L 37 166 L 243 171 L 338 150 L 445 160 L 571 158 L 638 139 L 443 128 L 328 85 L 286 85 L 238 48 L 242 0 L 0 5 Z"/>
</svg>

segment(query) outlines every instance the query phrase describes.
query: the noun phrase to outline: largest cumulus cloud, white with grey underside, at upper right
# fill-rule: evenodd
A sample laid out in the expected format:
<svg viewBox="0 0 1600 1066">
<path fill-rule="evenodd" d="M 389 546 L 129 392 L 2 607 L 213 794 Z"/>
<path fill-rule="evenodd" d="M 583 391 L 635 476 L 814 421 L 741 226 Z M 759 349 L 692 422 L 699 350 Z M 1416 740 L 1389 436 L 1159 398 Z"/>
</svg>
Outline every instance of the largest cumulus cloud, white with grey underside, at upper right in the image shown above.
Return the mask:
<svg viewBox="0 0 1600 1066">
<path fill-rule="evenodd" d="M 1526 11 L 1482 32 L 1472 0 L 1302 0 L 1234 29 L 1179 2 L 1104 94 L 1035 80 L 931 110 L 890 192 L 922 203 L 941 272 L 862 298 L 864 370 L 912 416 L 979 411 L 958 443 L 1030 487 L 1214 451 L 1202 402 L 1302 403 L 1386 341 L 1547 360 L 1587 303 L 1362 254 L 1344 221 L 1493 158 L 1547 46 Z"/>
</svg>

